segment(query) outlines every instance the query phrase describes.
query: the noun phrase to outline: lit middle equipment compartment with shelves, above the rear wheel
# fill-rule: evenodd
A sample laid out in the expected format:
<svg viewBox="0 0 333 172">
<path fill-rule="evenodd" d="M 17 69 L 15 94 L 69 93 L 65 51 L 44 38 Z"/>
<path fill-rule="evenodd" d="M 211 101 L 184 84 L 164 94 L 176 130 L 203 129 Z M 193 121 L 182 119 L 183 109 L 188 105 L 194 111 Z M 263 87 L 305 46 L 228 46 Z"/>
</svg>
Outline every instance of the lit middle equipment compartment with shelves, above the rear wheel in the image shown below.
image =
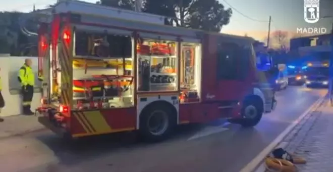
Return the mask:
<svg viewBox="0 0 333 172">
<path fill-rule="evenodd" d="M 173 41 L 146 40 L 138 46 L 139 91 L 177 90 L 177 56 Z"/>
</svg>

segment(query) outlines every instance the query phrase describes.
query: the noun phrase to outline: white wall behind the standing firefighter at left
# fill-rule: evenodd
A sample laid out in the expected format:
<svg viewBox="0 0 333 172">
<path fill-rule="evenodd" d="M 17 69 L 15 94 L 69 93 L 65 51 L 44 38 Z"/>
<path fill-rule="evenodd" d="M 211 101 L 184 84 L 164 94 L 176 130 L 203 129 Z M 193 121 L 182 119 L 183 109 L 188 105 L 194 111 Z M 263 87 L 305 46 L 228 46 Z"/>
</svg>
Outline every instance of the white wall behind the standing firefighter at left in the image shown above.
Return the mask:
<svg viewBox="0 0 333 172">
<path fill-rule="evenodd" d="M 18 93 L 21 88 L 19 81 L 17 80 L 18 71 L 24 64 L 24 59 L 30 58 L 33 61 L 33 70 L 36 72 L 36 87 L 41 83 L 38 81 L 37 70 L 38 60 L 36 57 L 10 57 L 9 55 L 0 54 L 0 76 L 3 82 L 2 95 L 5 99 L 6 105 L 2 109 L 0 116 L 11 116 L 22 113 L 22 98 Z M 10 93 L 12 90 L 12 94 Z M 17 90 L 16 92 L 13 90 Z M 31 110 L 34 111 L 40 105 L 41 94 L 34 93 L 34 97 L 31 102 Z"/>
</svg>

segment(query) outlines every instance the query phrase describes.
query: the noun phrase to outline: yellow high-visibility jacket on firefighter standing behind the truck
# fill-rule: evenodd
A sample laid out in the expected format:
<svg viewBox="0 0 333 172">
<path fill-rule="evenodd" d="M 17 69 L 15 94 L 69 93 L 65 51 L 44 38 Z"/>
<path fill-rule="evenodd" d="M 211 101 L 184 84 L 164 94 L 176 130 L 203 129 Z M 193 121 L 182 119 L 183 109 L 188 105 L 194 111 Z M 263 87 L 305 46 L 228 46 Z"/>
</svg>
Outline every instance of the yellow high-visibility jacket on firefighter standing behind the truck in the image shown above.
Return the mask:
<svg viewBox="0 0 333 172">
<path fill-rule="evenodd" d="M 22 86 L 35 85 L 35 74 L 30 66 L 24 64 L 19 70 L 18 80 Z"/>
</svg>

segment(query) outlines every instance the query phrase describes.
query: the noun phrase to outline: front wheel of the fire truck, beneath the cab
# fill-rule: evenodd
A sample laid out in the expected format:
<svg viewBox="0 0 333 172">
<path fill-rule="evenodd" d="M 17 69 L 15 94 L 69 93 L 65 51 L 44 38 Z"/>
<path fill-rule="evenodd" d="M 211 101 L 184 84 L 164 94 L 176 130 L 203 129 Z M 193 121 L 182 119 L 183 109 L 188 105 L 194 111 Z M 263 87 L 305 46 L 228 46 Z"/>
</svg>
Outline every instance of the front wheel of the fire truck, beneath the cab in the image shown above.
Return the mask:
<svg viewBox="0 0 333 172">
<path fill-rule="evenodd" d="M 241 111 L 243 118 L 239 124 L 243 127 L 252 127 L 259 123 L 263 114 L 263 105 L 260 98 L 249 98 L 244 101 L 244 105 Z"/>
</svg>

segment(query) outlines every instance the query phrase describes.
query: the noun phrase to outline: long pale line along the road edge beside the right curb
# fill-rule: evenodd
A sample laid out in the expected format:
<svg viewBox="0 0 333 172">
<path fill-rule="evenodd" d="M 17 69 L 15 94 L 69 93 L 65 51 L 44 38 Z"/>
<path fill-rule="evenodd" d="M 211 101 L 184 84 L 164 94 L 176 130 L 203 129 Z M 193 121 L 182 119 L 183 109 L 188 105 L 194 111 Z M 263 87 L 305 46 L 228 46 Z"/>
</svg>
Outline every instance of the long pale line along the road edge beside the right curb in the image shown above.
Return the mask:
<svg viewBox="0 0 333 172">
<path fill-rule="evenodd" d="M 293 128 L 314 108 L 318 107 L 323 101 L 325 96 L 320 97 L 316 102 L 310 106 L 301 116 L 299 116 L 292 124 L 290 124 L 278 137 L 276 137 L 265 149 L 263 149 L 250 163 L 248 163 L 240 172 L 252 172 L 260 165 L 261 161 L 270 153 L 276 145 L 278 145 L 292 130 Z"/>
</svg>

